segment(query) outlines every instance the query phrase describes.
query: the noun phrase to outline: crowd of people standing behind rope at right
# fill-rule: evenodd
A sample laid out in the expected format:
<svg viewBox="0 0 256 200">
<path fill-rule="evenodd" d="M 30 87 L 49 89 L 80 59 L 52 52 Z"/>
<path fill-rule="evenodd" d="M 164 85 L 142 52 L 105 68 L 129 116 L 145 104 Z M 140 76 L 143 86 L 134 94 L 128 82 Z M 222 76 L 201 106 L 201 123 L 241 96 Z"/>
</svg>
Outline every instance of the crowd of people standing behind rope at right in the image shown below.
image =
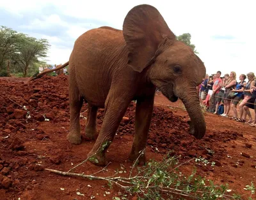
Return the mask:
<svg viewBox="0 0 256 200">
<path fill-rule="evenodd" d="M 200 104 L 207 111 L 228 117 L 233 111 L 231 120 L 243 122 L 256 127 L 256 80 L 254 73 L 240 75 L 236 80 L 236 72 L 221 76 L 221 71 L 214 75 L 205 75 L 199 86 Z M 249 109 L 254 109 L 254 119 Z M 248 120 L 246 118 L 248 117 Z"/>
</svg>

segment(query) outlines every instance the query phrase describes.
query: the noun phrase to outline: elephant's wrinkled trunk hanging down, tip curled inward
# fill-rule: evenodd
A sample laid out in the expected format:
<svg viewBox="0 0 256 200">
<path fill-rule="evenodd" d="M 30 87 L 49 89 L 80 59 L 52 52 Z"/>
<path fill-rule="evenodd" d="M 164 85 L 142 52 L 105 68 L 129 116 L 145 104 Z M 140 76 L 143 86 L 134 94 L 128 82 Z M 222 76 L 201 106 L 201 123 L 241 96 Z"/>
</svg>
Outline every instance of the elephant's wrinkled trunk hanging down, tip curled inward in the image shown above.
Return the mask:
<svg viewBox="0 0 256 200">
<path fill-rule="evenodd" d="M 188 122 L 189 133 L 195 136 L 196 139 L 203 138 L 206 131 L 205 119 L 196 92 L 188 92 L 186 96 L 184 95 L 180 99 L 191 118 L 191 121 Z"/>
</svg>

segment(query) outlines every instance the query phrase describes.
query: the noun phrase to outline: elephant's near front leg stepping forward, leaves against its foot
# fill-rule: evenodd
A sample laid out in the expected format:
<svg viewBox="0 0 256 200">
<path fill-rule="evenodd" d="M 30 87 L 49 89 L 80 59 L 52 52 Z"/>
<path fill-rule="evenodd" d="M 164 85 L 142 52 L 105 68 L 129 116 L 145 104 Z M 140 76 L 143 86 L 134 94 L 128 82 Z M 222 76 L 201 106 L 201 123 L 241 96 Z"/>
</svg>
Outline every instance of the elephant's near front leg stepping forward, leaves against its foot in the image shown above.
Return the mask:
<svg viewBox="0 0 256 200">
<path fill-rule="evenodd" d="M 97 166 L 106 166 L 106 150 L 113 141 L 115 132 L 118 129 L 122 117 L 124 117 L 131 99 L 119 94 L 112 94 L 107 97 L 103 124 L 99 136 L 95 141 L 91 152 L 88 154 L 88 157 L 90 157 L 88 160 L 93 164 Z"/>
</svg>

